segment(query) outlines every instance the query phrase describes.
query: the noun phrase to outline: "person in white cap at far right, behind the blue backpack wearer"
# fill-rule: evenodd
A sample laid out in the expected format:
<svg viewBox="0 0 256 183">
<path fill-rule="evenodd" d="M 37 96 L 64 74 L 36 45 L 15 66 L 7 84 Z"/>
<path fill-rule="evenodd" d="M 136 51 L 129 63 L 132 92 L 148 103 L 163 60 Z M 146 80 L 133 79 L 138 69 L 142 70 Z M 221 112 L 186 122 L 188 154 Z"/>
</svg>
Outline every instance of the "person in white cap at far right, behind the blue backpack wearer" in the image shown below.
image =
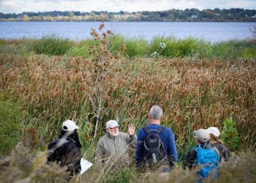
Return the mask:
<svg viewBox="0 0 256 183">
<path fill-rule="evenodd" d="M 212 147 L 215 147 L 219 150 L 219 159 L 220 162 L 227 162 L 228 161 L 228 150 L 227 148 L 224 146 L 224 143 L 222 142 L 222 140 L 219 140 L 219 129 L 216 127 L 209 127 L 207 129 L 207 131 L 209 132 L 210 136 L 209 136 L 209 144 Z"/>
</svg>

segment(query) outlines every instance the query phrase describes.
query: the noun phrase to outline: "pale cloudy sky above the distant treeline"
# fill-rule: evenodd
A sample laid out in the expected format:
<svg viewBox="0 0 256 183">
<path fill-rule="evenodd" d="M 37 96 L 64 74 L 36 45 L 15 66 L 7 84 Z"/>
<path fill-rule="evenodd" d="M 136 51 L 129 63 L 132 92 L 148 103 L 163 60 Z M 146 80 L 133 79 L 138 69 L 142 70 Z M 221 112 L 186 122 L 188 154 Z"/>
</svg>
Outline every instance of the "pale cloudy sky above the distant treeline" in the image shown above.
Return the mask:
<svg viewBox="0 0 256 183">
<path fill-rule="evenodd" d="M 256 0 L 0 0 L 0 12 L 38 11 L 164 11 L 169 9 L 256 9 Z"/>
</svg>

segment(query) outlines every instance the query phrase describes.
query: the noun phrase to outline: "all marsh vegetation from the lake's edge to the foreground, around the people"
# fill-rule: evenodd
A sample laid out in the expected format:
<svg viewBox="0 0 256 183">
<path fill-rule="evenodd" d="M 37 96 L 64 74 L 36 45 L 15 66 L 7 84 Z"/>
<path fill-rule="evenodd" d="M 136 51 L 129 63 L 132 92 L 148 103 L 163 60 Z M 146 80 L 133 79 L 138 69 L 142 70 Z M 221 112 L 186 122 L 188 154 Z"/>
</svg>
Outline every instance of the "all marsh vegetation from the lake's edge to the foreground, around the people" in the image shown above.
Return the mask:
<svg viewBox="0 0 256 183">
<path fill-rule="evenodd" d="M 183 157 L 195 145 L 192 132 L 215 126 L 232 157 L 220 167 L 219 181 L 255 180 L 254 40 L 212 44 L 193 38 L 155 37 L 148 43 L 121 35 L 97 35 L 98 40 L 94 35 L 80 42 L 56 35 L 0 40 L 1 180 L 65 181 L 63 169 L 45 164 L 45 145 L 57 136 L 63 120 L 78 123 L 83 157 L 94 162 L 96 142 L 105 134 L 107 120 L 118 120 L 121 131 L 128 124 L 138 130 L 147 123 L 153 104 L 164 109 L 162 123 L 173 130 L 177 143 L 177 169 L 164 178 L 195 179 L 193 172 L 182 169 Z M 100 65 L 102 59 L 105 65 Z M 96 72 L 106 69 L 111 74 L 102 81 L 104 91 L 97 90 Z M 97 113 L 99 92 L 102 100 Z M 152 175 L 136 171 L 131 162 L 118 171 L 92 166 L 72 181 L 162 181 Z"/>
</svg>

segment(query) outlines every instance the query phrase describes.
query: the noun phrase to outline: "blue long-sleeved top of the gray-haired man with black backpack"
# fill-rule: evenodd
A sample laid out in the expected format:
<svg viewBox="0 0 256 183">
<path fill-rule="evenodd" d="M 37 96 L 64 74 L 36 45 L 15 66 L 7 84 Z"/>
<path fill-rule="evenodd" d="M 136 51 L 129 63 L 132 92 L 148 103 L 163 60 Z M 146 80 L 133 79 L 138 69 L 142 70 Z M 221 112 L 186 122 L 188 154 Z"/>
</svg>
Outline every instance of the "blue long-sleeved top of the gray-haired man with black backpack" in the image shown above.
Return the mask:
<svg viewBox="0 0 256 183">
<path fill-rule="evenodd" d="M 158 130 L 161 127 L 160 124 L 149 124 L 147 125 L 151 130 Z M 135 159 L 137 163 L 144 162 L 144 140 L 146 139 L 147 133 L 141 128 L 138 131 Z M 164 150 L 167 153 L 165 156 L 170 158 L 171 162 L 177 162 L 177 149 L 173 136 L 173 131 L 169 127 L 166 127 L 160 134 L 160 140 L 164 143 Z"/>
</svg>

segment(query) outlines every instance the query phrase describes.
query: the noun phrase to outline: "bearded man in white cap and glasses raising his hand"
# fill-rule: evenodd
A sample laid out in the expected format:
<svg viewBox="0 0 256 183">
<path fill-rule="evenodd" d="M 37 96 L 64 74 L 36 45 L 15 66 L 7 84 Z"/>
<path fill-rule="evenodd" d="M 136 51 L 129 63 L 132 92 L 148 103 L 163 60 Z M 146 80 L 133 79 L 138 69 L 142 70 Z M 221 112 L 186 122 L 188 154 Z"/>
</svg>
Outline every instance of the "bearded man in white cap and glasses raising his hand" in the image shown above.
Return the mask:
<svg viewBox="0 0 256 183">
<path fill-rule="evenodd" d="M 116 120 L 109 120 L 106 123 L 107 133 L 99 139 L 95 152 L 97 159 L 102 163 L 107 159 L 120 159 L 128 165 L 128 147 L 130 144 L 135 146 L 137 140 L 135 127 L 129 124 L 128 133 L 119 132 L 118 127 Z"/>
</svg>

